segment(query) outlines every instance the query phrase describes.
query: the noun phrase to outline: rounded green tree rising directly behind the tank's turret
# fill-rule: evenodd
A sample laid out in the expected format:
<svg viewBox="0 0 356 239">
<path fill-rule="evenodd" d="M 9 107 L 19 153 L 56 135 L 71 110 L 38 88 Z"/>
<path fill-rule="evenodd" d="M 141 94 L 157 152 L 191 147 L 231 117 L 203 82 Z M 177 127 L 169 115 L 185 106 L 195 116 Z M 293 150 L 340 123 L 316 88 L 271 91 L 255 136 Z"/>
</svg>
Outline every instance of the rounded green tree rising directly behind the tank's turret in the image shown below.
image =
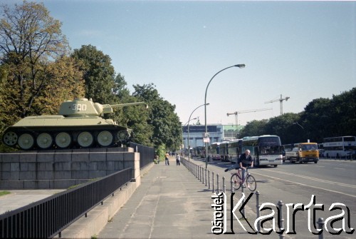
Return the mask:
<svg viewBox="0 0 356 239">
<path fill-rule="evenodd" d="M 82 61 L 84 72 L 85 98 L 93 98 L 98 103 L 115 101 L 112 90 L 115 88 L 115 69 L 110 56 L 98 51 L 95 46 L 82 46 L 75 49 L 72 57 Z"/>
</svg>

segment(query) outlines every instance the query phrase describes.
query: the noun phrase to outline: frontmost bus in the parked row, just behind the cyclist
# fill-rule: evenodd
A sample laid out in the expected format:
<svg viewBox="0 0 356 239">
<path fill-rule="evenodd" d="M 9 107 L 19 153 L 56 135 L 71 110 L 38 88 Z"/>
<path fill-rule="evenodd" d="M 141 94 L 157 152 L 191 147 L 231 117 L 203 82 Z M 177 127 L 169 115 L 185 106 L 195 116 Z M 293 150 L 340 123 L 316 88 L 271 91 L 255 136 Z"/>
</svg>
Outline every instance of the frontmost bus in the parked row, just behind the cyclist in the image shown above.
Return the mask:
<svg viewBox="0 0 356 239">
<path fill-rule="evenodd" d="M 242 152 L 251 151 L 254 166 L 274 166 L 283 163 L 282 144 L 279 136 L 252 136 L 242 139 Z"/>
</svg>

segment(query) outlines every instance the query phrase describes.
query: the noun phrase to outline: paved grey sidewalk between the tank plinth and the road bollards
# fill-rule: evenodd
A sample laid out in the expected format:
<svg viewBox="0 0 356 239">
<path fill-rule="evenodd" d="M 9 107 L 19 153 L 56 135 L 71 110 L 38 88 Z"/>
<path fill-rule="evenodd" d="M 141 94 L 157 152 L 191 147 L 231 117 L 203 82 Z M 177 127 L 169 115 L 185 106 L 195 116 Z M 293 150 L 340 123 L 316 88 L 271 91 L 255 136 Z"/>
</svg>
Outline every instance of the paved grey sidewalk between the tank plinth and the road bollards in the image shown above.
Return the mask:
<svg viewBox="0 0 356 239">
<path fill-rule="evenodd" d="M 211 190 L 182 165 L 159 163 L 98 238 L 226 238 L 211 233 Z M 228 199 L 229 200 L 229 199 Z M 239 238 L 251 238 L 247 233 Z M 243 236 L 243 237 L 241 237 Z M 229 235 L 236 238 L 236 235 Z"/>
</svg>

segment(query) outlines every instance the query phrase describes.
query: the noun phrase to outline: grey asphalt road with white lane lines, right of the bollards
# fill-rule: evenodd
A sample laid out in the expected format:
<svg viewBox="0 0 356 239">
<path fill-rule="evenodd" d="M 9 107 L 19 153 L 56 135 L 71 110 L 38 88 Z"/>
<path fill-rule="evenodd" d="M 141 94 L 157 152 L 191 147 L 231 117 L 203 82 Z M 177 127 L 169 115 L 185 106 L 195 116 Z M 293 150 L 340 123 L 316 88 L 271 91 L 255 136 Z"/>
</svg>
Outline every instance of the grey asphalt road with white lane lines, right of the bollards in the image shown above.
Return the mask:
<svg viewBox="0 0 356 239">
<path fill-rule="evenodd" d="M 197 159 L 197 162 L 199 161 L 200 164 L 204 165 L 204 159 Z M 230 165 L 231 163 L 215 161 L 209 163 L 209 171 L 214 171 L 215 174 L 219 173 L 221 178 L 224 176 L 229 181 L 231 171 L 225 173 L 224 169 Z M 356 232 L 348 234 L 341 230 L 340 235 L 332 235 L 330 232 L 335 233 L 333 229 L 337 228 L 345 228 L 348 231 L 350 231 L 348 228 L 356 228 L 356 161 L 322 159 L 318 163 L 303 164 L 292 164 L 286 161 L 277 168 L 251 168 L 250 172 L 257 180 L 256 190 L 260 193 L 259 205 L 262 205 L 262 203 L 276 205 L 278 201 L 282 201 L 284 228 L 289 228 L 290 232 L 295 232 L 295 234 L 285 235 L 284 238 L 318 238 L 318 235 L 313 235 L 310 232 L 310 230 L 317 232 L 313 229 L 313 222 L 318 218 L 330 219 L 326 227 L 329 231 L 324 228 L 323 238 L 355 238 Z M 229 185 L 226 186 L 226 190 L 227 188 L 229 188 Z M 241 194 L 241 190 L 238 193 Z M 245 193 L 250 192 L 245 190 Z M 305 208 L 308 208 L 307 206 L 311 204 L 310 209 L 314 209 L 306 210 L 304 208 L 305 210 L 296 211 L 293 220 L 293 210 L 290 209 L 289 217 L 287 215 L 286 204 L 288 203 L 294 205 L 303 203 Z M 256 194 L 248 200 L 247 205 L 253 213 L 256 213 Z M 330 208 L 332 205 L 334 210 Z M 291 208 L 292 205 L 288 207 Z M 322 207 L 323 210 L 320 209 Z M 337 207 L 340 209 L 337 209 Z M 251 212 L 251 210 L 249 211 Z M 278 212 L 277 209 L 274 209 L 274 211 L 275 213 Z M 315 216 L 313 212 L 315 212 Z M 340 215 L 342 212 L 345 215 Z M 261 215 L 271 213 L 272 210 L 268 209 L 261 211 Z M 256 214 L 248 215 L 248 218 L 250 218 L 249 223 L 253 224 L 256 220 Z M 345 220 L 342 220 L 342 218 Z M 335 219 L 335 223 L 330 225 L 333 219 Z M 288 223 L 289 227 L 287 226 Z M 274 224 L 277 227 L 277 222 Z M 264 228 L 272 228 L 272 225 L 273 221 L 268 220 L 264 224 Z M 293 226 L 295 226 L 294 230 Z M 318 225 L 316 226 L 318 227 Z M 241 230 L 238 223 L 234 223 L 234 228 Z M 272 232 L 269 237 L 278 238 L 278 235 Z M 266 236 L 266 238 L 269 237 Z"/>
</svg>

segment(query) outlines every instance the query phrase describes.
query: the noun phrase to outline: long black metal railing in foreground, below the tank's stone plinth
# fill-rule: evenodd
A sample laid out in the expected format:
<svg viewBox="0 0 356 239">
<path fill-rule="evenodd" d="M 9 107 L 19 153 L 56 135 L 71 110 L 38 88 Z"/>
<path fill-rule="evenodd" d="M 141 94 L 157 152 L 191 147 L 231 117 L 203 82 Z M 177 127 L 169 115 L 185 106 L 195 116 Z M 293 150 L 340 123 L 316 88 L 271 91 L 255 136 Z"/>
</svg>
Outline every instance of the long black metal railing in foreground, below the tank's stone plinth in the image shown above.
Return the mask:
<svg viewBox="0 0 356 239">
<path fill-rule="evenodd" d="M 0 215 L 0 238 L 53 238 L 132 180 L 132 168 Z"/>
</svg>

